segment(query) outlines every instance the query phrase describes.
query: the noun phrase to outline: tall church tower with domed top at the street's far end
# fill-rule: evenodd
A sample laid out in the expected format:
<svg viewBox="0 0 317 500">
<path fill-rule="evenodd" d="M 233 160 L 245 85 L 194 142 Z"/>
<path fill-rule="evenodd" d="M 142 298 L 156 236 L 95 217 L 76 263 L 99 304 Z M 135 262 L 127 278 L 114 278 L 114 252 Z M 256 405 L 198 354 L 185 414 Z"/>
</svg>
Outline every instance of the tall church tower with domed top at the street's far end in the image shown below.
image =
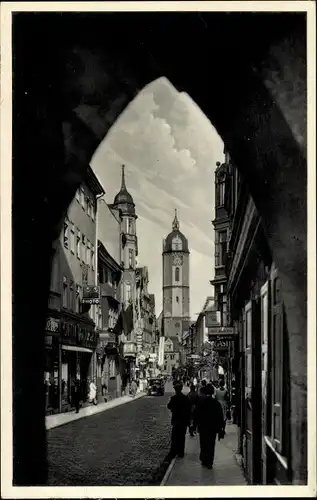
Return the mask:
<svg viewBox="0 0 317 500">
<path fill-rule="evenodd" d="M 189 249 L 179 230 L 177 211 L 172 232 L 163 241 L 163 332 L 182 339 L 190 323 Z"/>
</svg>

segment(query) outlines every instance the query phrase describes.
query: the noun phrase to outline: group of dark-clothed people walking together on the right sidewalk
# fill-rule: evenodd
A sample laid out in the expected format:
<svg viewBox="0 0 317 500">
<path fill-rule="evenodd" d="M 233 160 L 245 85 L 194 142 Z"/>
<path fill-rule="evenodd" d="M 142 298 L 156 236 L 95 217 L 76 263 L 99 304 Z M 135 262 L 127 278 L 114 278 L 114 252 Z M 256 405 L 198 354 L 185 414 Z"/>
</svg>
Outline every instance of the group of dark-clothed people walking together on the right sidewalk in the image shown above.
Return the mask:
<svg viewBox="0 0 317 500">
<path fill-rule="evenodd" d="M 193 381 L 194 382 L 194 381 Z M 227 390 L 223 381 L 215 391 L 212 383 L 202 380 L 201 384 L 192 383 L 190 392 L 185 395 L 183 384 L 174 383 L 175 395 L 167 407 L 172 413 L 172 438 L 170 456 L 184 457 L 187 429 L 194 437 L 199 433 L 200 461 L 204 467 L 212 469 L 216 439 L 225 436 Z"/>
</svg>

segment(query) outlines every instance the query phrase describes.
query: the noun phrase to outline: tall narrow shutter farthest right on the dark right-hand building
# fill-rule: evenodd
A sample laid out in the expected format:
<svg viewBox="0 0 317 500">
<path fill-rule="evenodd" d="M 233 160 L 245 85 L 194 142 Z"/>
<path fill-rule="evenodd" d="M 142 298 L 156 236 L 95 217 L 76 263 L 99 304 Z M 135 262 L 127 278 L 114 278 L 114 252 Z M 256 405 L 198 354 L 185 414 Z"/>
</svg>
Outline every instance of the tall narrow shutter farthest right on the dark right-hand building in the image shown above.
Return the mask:
<svg viewBox="0 0 317 500">
<path fill-rule="evenodd" d="M 272 439 L 282 453 L 282 387 L 283 387 L 283 315 L 280 279 L 277 270 L 271 273 L 271 352 L 272 352 Z"/>
</svg>

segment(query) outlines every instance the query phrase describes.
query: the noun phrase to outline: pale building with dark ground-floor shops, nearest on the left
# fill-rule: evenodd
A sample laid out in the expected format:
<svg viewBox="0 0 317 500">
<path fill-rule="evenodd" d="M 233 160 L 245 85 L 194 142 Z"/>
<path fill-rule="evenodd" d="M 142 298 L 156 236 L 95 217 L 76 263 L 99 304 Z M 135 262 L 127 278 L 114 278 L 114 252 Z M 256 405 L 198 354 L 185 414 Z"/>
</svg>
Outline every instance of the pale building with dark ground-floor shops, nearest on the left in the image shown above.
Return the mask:
<svg viewBox="0 0 317 500">
<path fill-rule="evenodd" d="M 68 411 L 74 406 L 76 379 L 85 402 L 88 381 L 96 377 L 95 319 L 100 306 L 84 302 L 87 286 L 94 288 L 97 284 L 96 212 L 97 199 L 103 194 L 103 187 L 88 167 L 54 248 L 45 338 L 47 413 Z"/>
</svg>

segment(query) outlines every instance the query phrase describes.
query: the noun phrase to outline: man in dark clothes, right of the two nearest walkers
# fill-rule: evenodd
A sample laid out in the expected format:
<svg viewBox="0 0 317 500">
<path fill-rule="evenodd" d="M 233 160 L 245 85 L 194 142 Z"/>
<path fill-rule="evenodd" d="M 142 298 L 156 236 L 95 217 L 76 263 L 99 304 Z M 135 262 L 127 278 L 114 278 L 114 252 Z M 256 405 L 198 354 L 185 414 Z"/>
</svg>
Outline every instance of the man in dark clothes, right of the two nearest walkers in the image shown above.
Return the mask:
<svg viewBox="0 0 317 500">
<path fill-rule="evenodd" d="M 213 396 L 214 388 L 208 384 L 205 394 L 199 398 L 196 406 L 196 419 L 200 441 L 200 461 L 204 467 L 212 469 L 215 456 L 216 437 L 222 439 L 223 434 L 223 413 L 222 408 Z"/>
</svg>

